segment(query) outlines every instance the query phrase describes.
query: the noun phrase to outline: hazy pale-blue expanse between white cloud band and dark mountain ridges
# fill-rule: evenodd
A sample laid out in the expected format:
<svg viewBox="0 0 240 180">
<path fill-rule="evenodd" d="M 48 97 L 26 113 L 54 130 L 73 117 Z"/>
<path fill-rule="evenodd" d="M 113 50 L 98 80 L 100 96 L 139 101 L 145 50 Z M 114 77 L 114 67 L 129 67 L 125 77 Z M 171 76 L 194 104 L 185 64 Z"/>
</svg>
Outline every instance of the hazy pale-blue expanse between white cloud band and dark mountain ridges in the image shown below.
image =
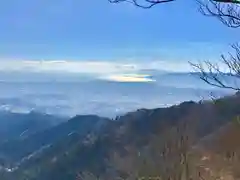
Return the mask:
<svg viewBox="0 0 240 180">
<path fill-rule="evenodd" d="M 154 81 L 145 81 L 140 76 L 141 81 L 136 82 L 77 74 L 5 73 L 3 76 L 0 72 L 0 110 L 115 117 L 140 108 L 208 99 L 210 93 L 217 97 L 232 93 L 214 88 L 189 73 L 157 72 L 148 70 Z"/>
</svg>

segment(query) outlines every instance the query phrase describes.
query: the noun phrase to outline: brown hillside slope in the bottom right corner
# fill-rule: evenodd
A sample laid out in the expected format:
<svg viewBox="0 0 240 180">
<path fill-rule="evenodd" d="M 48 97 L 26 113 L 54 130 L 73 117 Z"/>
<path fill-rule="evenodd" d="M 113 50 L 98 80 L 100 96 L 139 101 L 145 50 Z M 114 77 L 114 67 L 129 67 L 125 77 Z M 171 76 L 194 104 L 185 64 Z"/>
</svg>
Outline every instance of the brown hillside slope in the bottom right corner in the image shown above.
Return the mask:
<svg viewBox="0 0 240 180">
<path fill-rule="evenodd" d="M 240 179 L 240 123 L 229 122 L 192 148 L 199 172 L 206 179 Z"/>
</svg>

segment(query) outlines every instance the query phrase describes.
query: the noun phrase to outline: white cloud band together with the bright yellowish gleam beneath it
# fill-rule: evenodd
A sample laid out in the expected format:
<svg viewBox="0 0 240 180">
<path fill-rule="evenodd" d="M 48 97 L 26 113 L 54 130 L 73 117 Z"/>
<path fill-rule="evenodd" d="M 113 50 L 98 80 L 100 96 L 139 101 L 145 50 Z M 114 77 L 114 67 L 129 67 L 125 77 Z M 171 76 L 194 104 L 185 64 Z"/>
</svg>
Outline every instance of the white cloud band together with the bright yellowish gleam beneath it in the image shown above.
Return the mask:
<svg viewBox="0 0 240 180">
<path fill-rule="evenodd" d="M 223 66 L 221 66 L 222 69 Z M 226 68 L 225 68 L 226 69 Z M 147 71 L 145 71 L 147 70 Z M 0 72 L 38 75 L 58 74 L 90 75 L 97 79 L 128 82 L 154 81 L 149 75 L 154 72 L 190 72 L 193 67 L 186 61 L 161 60 L 119 60 L 119 61 L 73 61 L 73 60 L 8 60 L 0 59 Z M 147 73 L 144 75 L 143 73 Z M 54 76 L 55 76 L 54 75 Z M 18 77 L 16 75 L 16 77 Z"/>
</svg>

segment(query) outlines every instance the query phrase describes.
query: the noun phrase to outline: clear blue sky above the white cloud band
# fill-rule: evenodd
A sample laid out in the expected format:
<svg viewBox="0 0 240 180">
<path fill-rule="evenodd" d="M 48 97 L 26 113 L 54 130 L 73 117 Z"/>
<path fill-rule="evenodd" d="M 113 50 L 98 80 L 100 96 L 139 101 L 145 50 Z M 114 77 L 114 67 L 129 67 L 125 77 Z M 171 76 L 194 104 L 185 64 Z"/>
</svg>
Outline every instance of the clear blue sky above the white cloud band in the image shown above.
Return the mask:
<svg viewBox="0 0 240 180">
<path fill-rule="evenodd" d="M 237 30 L 197 11 L 194 0 L 151 10 L 107 0 L 0 2 L 0 59 L 216 59 Z"/>
</svg>

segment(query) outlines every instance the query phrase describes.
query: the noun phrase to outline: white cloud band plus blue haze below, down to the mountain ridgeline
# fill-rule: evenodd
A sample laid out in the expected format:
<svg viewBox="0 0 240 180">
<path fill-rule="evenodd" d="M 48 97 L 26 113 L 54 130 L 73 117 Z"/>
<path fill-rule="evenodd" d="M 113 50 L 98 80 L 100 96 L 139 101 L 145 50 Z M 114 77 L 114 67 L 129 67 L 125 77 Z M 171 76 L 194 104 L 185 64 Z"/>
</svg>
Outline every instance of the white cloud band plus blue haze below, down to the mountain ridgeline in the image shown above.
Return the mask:
<svg viewBox="0 0 240 180">
<path fill-rule="evenodd" d="M 4 60 L 0 61 L 0 110 L 115 116 L 142 107 L 199 100 L 218 91 L 189 73 L 166 72 L 183 72 L 185 65 Z"/>
</svg>

